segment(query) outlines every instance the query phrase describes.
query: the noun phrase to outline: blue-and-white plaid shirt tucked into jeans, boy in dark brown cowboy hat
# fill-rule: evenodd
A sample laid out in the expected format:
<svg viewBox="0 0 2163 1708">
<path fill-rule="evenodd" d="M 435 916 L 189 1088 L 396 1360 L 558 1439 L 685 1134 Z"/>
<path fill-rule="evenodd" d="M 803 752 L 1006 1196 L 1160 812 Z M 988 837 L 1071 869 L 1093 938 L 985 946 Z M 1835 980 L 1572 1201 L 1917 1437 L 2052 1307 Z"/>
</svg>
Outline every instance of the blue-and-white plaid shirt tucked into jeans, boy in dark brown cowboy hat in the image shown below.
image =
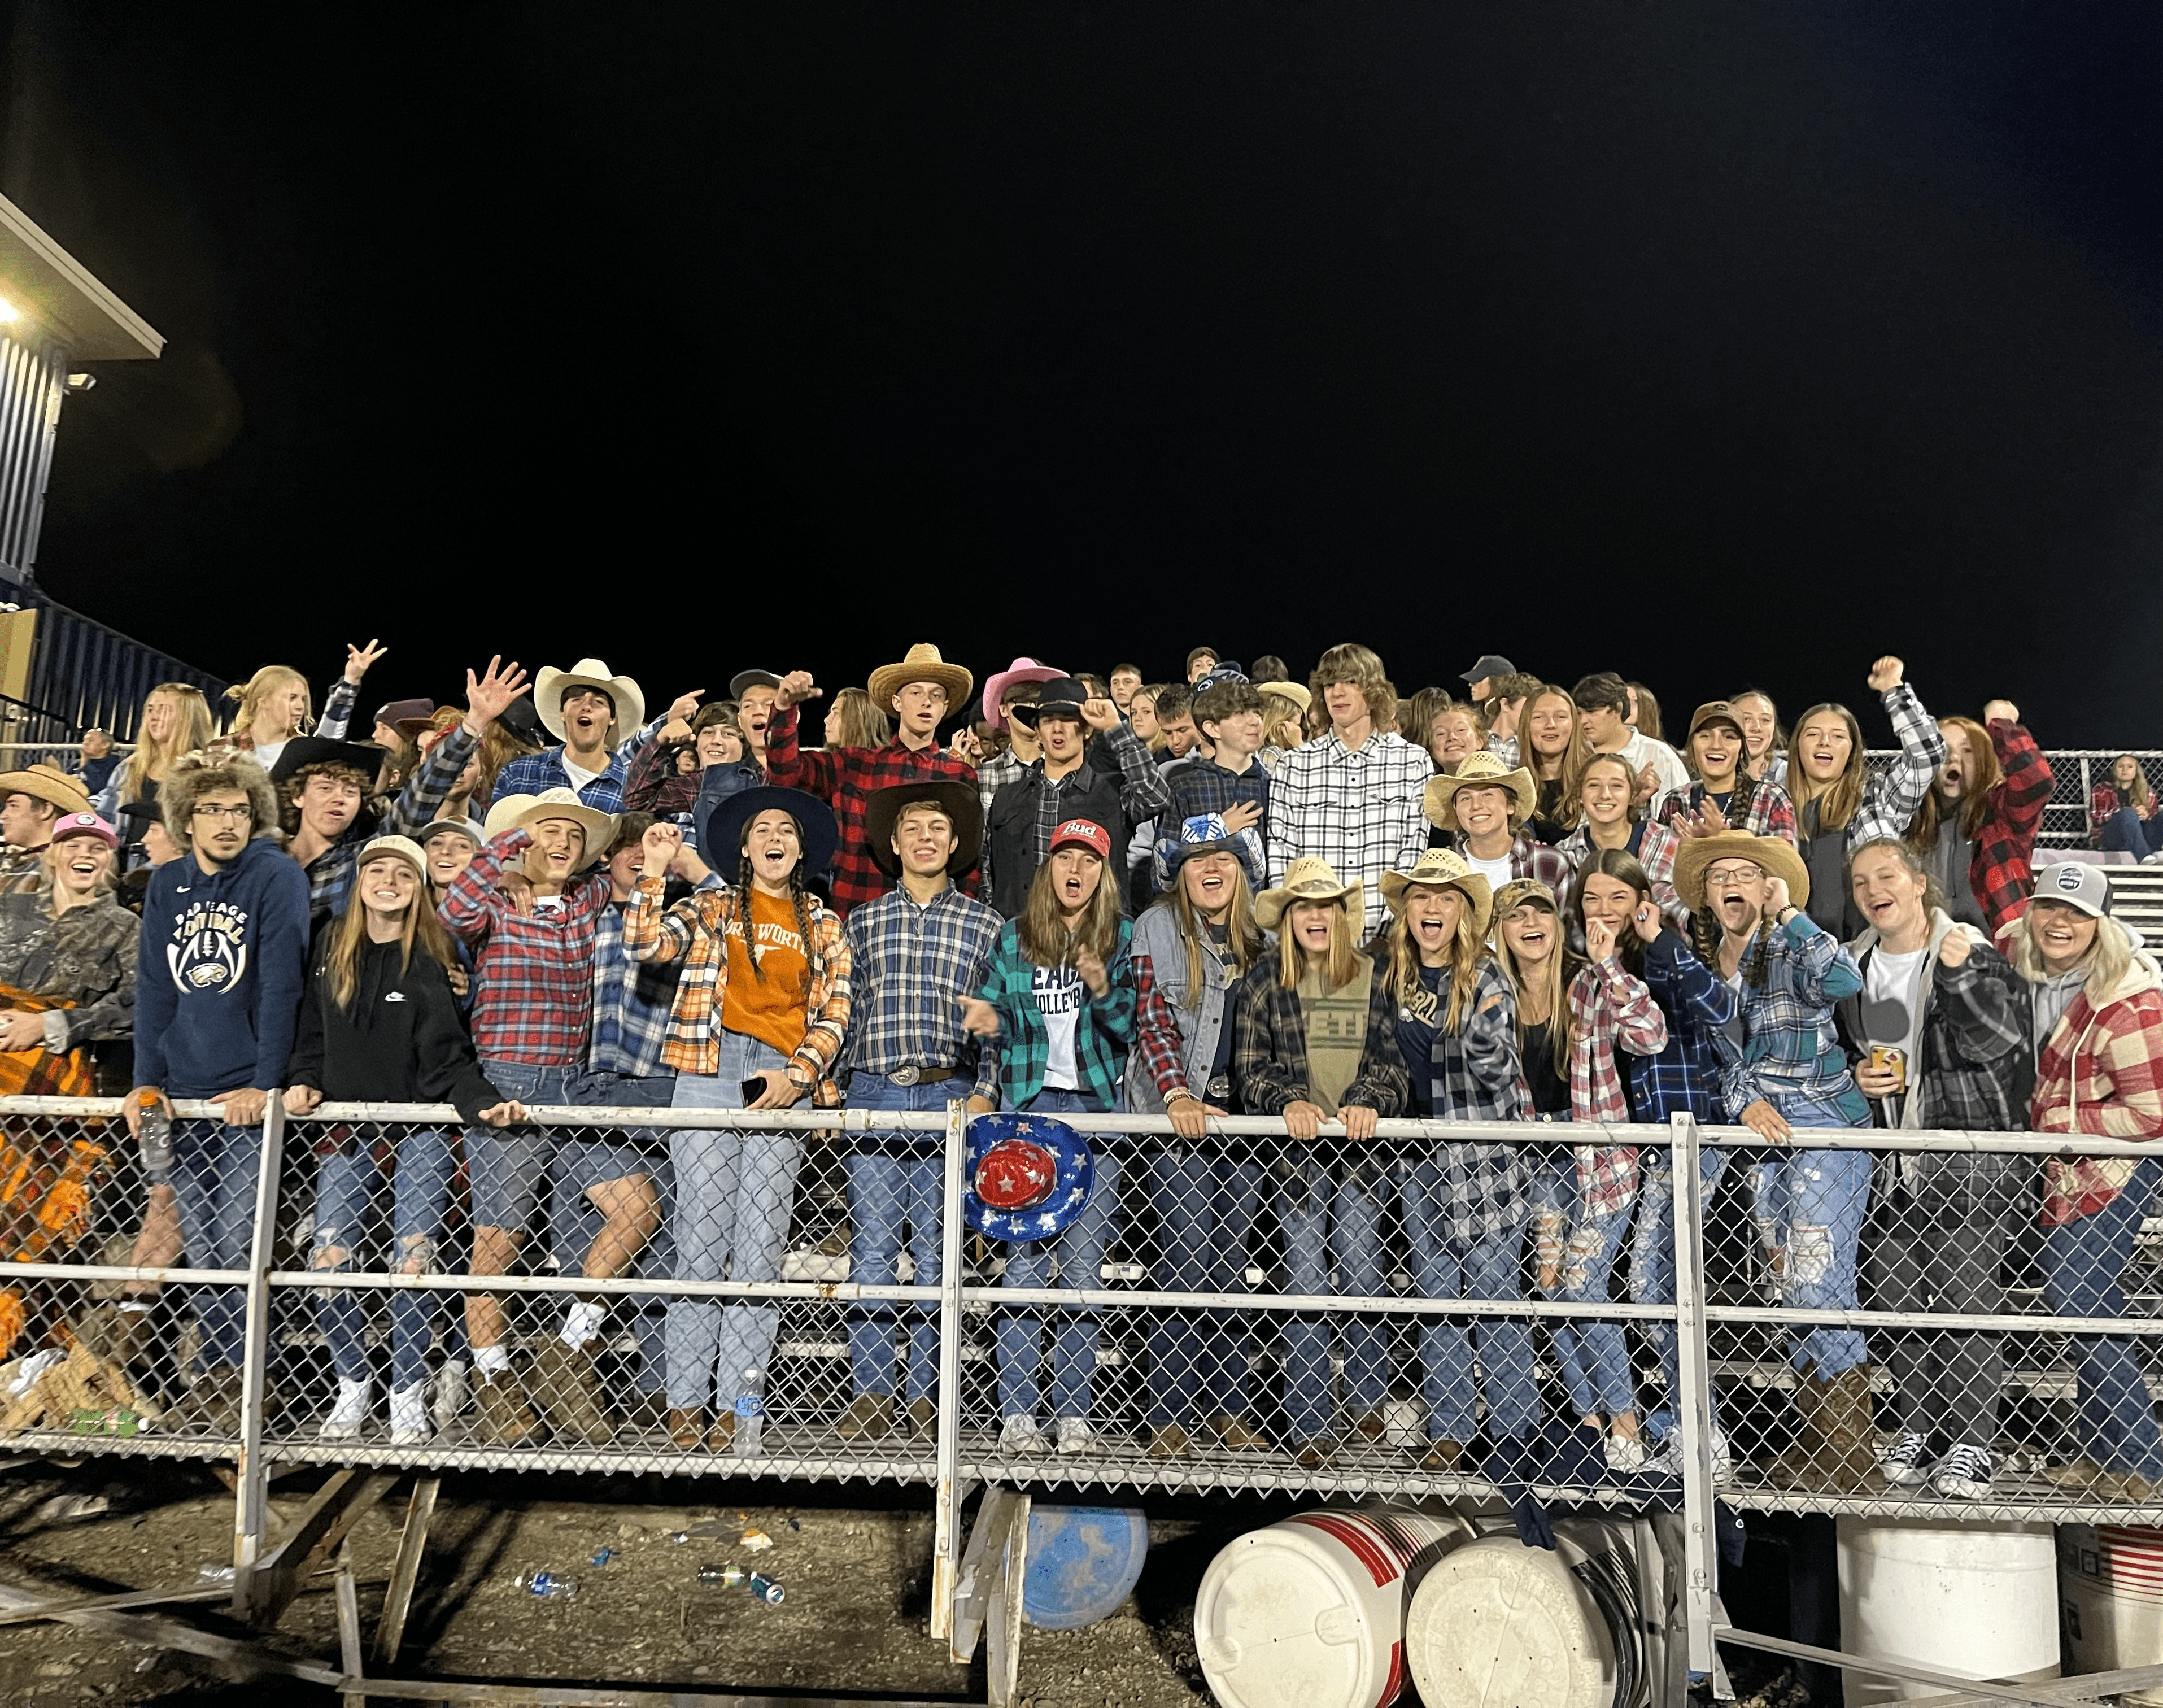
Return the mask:
<svg viewBox="0 0 2163 1708">
<path fill-rule="evenodd" d="M 976 1075 L 976 1096 L 997 1100 L 997 1057 L 963 1027 L 960 999 L 984 984 L 1001 923 L 954 884 L 926 904 L 891 889 L 857 908 L 848 917 L 848 1066 L 876 1075 L 958 1068 Z"/>
</svg>

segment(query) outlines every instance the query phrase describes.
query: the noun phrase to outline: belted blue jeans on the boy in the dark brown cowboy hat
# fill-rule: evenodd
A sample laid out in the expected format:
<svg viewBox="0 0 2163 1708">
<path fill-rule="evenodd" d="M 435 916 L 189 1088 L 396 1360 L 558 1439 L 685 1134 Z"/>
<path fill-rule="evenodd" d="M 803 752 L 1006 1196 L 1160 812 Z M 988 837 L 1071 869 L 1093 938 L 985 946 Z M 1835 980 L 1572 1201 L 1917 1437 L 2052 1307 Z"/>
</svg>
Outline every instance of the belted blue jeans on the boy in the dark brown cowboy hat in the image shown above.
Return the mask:
<svg viewBox="0 0 2163 1708">
<path fill-rule="evenodd" d="M 848 1083 L 852 1109 L 939 1111 L 967 1096 L 969 1081 L 895 1085 L 885 1075 L 857 1072 Z M 937 1133 L 867 1135 L 872 1144 L 848 1159 L 848 1278 L 893 1286 L 900 1271 L 902 1228 L 908 1230 L 911 1286 L 939 1286 L 941 1206 L 945 1204 L 945 1150 Z M 857 1395 L 893 1395 L 891 1299 L 848 1308 L 848 1377 Z M 900 1306 L 908 1321 L 902 1399 L 926 1399 L 939 1386 L 939 1308 Z"/>
</svg>

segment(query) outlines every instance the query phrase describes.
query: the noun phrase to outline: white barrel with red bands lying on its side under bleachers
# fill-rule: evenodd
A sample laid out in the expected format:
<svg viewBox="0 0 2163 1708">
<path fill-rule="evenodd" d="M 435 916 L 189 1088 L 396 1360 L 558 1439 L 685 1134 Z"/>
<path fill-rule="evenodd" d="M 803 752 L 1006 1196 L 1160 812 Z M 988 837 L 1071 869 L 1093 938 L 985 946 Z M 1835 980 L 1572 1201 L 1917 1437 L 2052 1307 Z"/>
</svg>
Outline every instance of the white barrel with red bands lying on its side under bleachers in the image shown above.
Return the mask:
<svg viewBox="0 0 2163 1708">
<path fill-rule="evenodd" d="M 1332 1509 L 1239 1537 L 1194 1598 L 1194 1650 L 1216 1699 L 1389 1708 L 1404 1689 L 1410 1574 L 1467 1535 L 1449 1516 Z"/>
</svg>

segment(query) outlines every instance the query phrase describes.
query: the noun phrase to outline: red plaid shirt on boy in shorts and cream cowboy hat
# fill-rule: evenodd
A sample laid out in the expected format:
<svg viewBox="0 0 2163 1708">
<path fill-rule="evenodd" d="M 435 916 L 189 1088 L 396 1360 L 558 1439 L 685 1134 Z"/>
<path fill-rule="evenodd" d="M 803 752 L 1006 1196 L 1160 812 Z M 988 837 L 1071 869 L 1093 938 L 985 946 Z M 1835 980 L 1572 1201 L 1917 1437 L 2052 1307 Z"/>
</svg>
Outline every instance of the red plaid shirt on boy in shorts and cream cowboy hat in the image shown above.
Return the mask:
<svg viewBox="0 0 2163 1708">
<path fill-rule="evenodd" d="M 588 871 L 562 906 L 521 915 L 497 880 L 532 837 L 489 837 L 450 880 L 437 917 L 474 945 L 474 1049 L 493 1062 L 578 1068 L 593 1029 L 593 940 L 608 906 L 608 878 Z"/>
</svg>

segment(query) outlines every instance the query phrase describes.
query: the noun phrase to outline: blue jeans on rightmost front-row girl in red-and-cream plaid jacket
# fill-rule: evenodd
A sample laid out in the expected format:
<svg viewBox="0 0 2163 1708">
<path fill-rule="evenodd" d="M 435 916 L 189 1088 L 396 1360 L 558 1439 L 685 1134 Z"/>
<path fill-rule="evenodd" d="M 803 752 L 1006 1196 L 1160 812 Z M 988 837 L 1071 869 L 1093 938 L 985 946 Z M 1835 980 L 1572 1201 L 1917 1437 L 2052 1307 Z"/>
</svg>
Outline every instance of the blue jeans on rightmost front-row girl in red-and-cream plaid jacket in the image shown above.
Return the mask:
<svg viewBox="0 0 2163 1708">
<path fill-rule="evenodd" d="M 2133 1170 L 2126 1189 L 2094 1215 L 2044 1235 L 2042 1293 L 2057 1317 L 2124 1317 L 2120 1286 L 2141 1217 L 2163 1180 L 2163 1163 Z M 2133 1470 L 2163 1481 L 2157 1414 L 2141 1379 L 2139 1343 L 2118 1334 L 2074 1334 L 2074 1375 L 2083 1446 L 2105 1470 Z"/>
</svg>

